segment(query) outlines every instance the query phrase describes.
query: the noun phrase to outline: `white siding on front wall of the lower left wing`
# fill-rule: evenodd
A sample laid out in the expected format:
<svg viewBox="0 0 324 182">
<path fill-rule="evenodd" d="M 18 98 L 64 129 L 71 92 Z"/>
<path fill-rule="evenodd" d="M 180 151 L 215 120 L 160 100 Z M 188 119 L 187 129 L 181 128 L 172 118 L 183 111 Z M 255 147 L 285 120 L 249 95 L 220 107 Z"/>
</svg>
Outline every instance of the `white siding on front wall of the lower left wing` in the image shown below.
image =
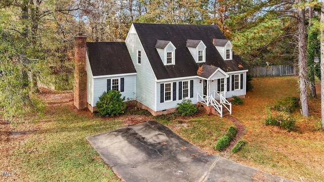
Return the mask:
<svg viewBox="0 0 324 182">
<path fill-rule="evenodd" d="M 116 79 L 124 78 L 124 92 L 121 92 L 121 96 L 127 99 L 134 99 L 135 94 L 135 79 L 136 75 L 127 75 L 127 76 L 118 76 L 114 77 L 113 75 L 104 78 L 94 78 L 94 105 L 96 105 L 99 97 L 103 92 L 107 92 L 107 79 Z M 120 79 L 119 79 L 119 88 L 120 88 Z"/>
</svg>

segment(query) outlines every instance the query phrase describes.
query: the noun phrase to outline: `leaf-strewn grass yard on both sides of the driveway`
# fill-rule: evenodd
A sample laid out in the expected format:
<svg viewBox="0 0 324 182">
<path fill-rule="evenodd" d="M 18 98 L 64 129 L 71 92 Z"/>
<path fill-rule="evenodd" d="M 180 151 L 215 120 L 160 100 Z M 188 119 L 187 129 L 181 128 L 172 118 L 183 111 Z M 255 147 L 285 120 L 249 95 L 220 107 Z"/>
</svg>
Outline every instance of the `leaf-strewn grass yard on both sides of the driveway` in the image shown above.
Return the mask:
<svg viewBox="0 0 324 182">
<path fill-rule="evenodd" d="M 232 116 L 244 125 L 242 140 L 247 141 L 237 154 L 213 149 L 218 138 L 233 125 L 226 118 L 200 113 L 195 117 L 160 117 L 158 121 L 210 153 L 294 180 L 321 181 L 324 132 L 315 131 L 320 118 L 320 99 L 310 99 L 310 118 L 302 118 L 295 111 L 297 127 L 287 132 L 265 126 L 262 117 L 265 105 L 272 106 L 283 97 L 299 96 L 297 77 L 254 78 L 253 85 L 254 92 L 247 93 L 244 104 L 233 107 Z M 28 123 L 3 122 L 1 126 L 10 132 L 0 141 L 1 147 L 8 151 L 0 170 L 15 172 L 15 176 L 7 179 L 118 181 L 85 137 L 152 117 L 95 118 L 87 111 L 73 109 L 71 93 L 46 93 L 41 97 L 49 103 L 43 117 L 30 116 Z"/>
</svg>

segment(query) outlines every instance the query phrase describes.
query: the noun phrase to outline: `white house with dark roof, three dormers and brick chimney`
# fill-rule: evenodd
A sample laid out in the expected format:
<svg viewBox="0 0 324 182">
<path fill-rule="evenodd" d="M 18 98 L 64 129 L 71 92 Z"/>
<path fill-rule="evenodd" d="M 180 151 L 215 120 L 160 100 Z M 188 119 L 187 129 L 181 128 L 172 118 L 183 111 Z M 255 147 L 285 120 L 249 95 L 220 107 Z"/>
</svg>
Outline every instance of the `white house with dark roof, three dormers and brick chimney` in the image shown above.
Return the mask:
<svg viewBox="0 0 324 182">
<path fill-rule="evenodd" d="M 190 99 L 222 116 L 231 113 L 227 98 L 246 95 L 248 67 L 216 25 L 133 23 L 125 42 L 86 43 L 79 34 L 75 63 L 75 105 L 92 112 L 110 89 L 153 115 Z"/>
</svg>

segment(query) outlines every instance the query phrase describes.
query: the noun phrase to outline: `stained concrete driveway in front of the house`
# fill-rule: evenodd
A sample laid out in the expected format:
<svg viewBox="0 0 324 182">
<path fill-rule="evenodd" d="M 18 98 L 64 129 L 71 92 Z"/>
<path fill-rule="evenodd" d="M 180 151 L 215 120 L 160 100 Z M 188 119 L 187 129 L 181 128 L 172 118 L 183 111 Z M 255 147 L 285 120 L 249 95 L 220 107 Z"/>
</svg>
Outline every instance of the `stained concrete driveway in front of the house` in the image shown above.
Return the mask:
<svg viewBox="0 0 324 182">
<path fill-rule="evenodd" d="M 291 181 L 208 155 L 156 121 L 87 140 L 125 181 Z"/>
</svg>

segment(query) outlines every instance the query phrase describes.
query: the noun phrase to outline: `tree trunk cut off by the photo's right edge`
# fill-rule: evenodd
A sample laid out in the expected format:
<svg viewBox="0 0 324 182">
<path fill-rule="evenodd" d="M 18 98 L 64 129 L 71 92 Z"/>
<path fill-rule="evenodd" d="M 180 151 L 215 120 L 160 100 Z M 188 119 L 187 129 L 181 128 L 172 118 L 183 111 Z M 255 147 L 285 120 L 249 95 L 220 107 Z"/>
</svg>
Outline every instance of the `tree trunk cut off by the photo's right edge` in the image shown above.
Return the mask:
<svg viewBox="0 0 324 182">
<path fill-rule="evenodd" d="M 321 0 L 320 23 L 324 22 L 324 0 Z M 322 130 L 324 130 L 324 30 L 320 30 L 320 105 L 322 115 Z"/>
</svg>

